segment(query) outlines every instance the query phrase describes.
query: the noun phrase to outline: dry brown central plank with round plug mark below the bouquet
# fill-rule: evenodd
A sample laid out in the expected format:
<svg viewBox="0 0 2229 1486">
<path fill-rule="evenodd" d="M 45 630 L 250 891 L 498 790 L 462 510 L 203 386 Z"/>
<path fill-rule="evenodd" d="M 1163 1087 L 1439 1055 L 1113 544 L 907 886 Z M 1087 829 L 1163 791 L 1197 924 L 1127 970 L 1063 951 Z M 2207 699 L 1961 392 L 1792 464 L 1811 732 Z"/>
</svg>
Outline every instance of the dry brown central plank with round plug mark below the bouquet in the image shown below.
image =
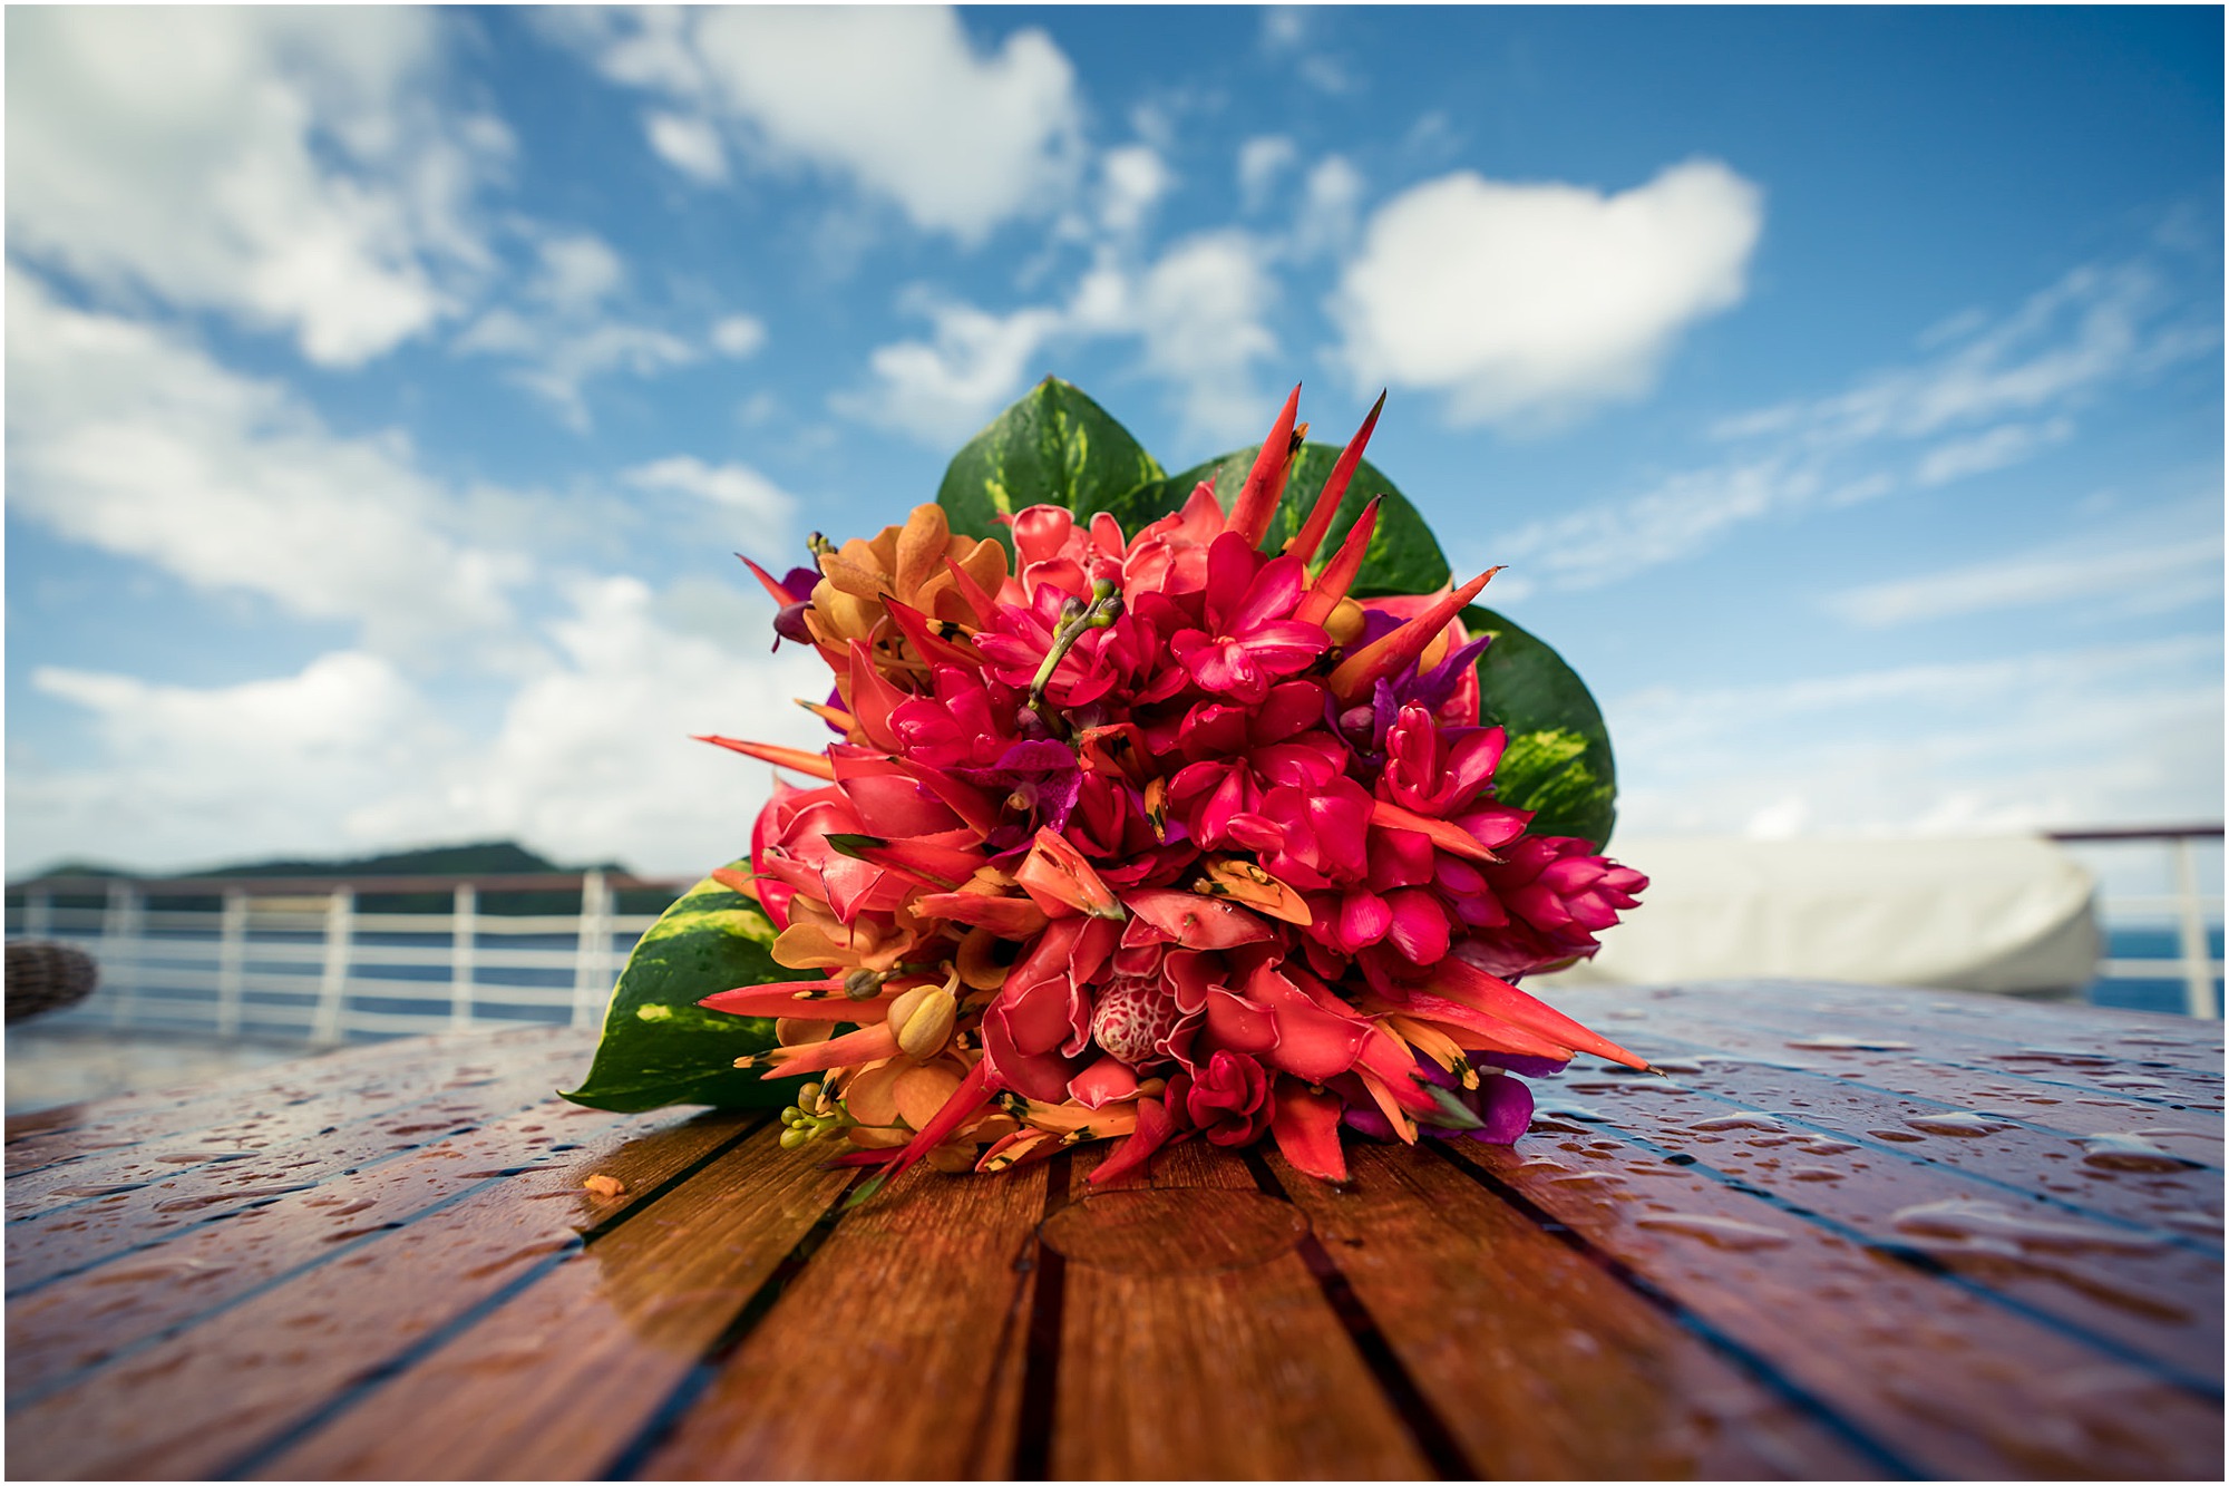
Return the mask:
<svg viewBox="0 0 2229 1486">
<path fill-rule="evenodd" d="M 1306 1234 L 1300 1209 L 1197 1140 L 1164 1151 L 1148 1189 L 1054 1212 L 1045 1243 L 1065 1261 L 1065 1294 L 1052 1475 L 1473 1475 L 1427 1457 L 1300 1258 Z"/>
</svg>

